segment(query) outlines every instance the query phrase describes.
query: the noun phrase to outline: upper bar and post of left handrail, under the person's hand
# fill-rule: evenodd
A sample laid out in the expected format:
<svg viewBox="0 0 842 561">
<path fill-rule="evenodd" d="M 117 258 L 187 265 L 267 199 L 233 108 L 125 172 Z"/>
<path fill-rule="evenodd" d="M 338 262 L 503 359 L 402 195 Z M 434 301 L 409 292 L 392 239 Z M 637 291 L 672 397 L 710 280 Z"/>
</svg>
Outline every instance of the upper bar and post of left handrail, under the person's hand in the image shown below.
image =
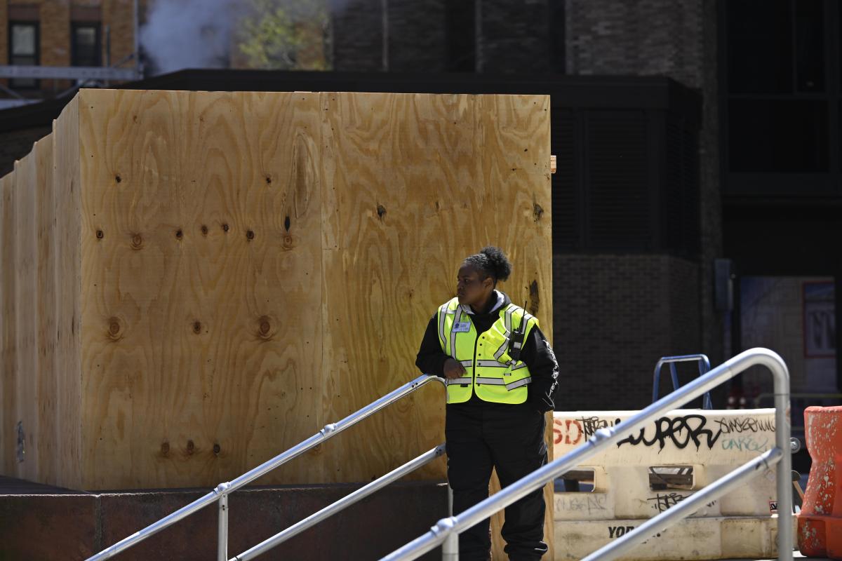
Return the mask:
<svg viewBox="0 0 842 561">
<path fill-rule="evenodd" d="M 219 544 L 217 558 L 219 561 L 227 561 L 227 495 L 231 494 L 243 485 L 251 483 L 254 479 L 258 479 L 258 477 L 268 474 L 274 468 L 278 468 L 280 465 L 289 462 L 292 458 L 296 458 L 302 453 L 305 453 L 307 450 L 310 450 L 313 447 L 317 447 L 322 442 L 328 440 L 328 438 L 334 437 L 338 435 L 338 433 L 349 428 L 349 426 L 354 426 L 355 424 L 364 420 L 370 415 L 373 415 L 377 411 L 385 408 L 387 405 L 390 405 L 393 402 L 400 400 L 402 397 L 413 393 L 415 390 L 433 381 L 440 382 L 443 386 L 445 386 L 445 380 L 443 378 L 439 378 L 438 376 L 434 376 L 432 374 L 422 374 L 418 378 L 415 378 L 413 381 L 408 382 L 407 384 L 403 384 L 400 388 L 397 388 L 389 394 L 384 395 L 379 400 L 376 400 L 370 403 L 369 405 L 366 405 L 362 409 L 352 413 L 351 415 L 348 415 L 342 421 L 326 425 L 324 428 L 322 428 L 321 431 L 318 431 L 312 437 L 307 438 L 303 442 L 299 442 L 298 444 L 296 444 L 296 446 L 291 447 L 289 450 L 286 450 L 285 452 L 278 454 L 274 458 L 269 459 L 264 463 L 261 463 L 260 465 L 258 465 L 257 468 L 253 468 L 251 471 L 242 474 L 237 479 L 217 485 L 216 488 L 210 491 L 210 493 L 208 493 L 207 495 L 204 495 L 199 499 L 194 500 L 189 505 L 182 506 L 178 511 L 175 511 L 168 516 L 164 516 L 161 520 L 153 522 L 149 526 L 143 528 L 138 532 L 135 532 L 131 536 L 123 538 L 122 540 L 120 540 L 120 542 L 116 542 L 109 548 L 105 548 L 96 555 L 93 555 L 93 557 L 89 557 L 88 561 L 99 561 L 100 559 L 111 558 L 117 553 L 120 553 L 125 549 L 131 548 L 136 543 L 142 542 L 147 537 L 150 537 L 153 534 L 156 534 L 157 532 L 161 532 L 164 528 L 173 525 L 175 522 L 182 520 L 187 516 L 190 516 L 195 511 L 199 511 L 200 509 L 204 508 L 207 505 L 210 505 L 210 503 L 215 501 L 219 502 Z"/>
</svg>

